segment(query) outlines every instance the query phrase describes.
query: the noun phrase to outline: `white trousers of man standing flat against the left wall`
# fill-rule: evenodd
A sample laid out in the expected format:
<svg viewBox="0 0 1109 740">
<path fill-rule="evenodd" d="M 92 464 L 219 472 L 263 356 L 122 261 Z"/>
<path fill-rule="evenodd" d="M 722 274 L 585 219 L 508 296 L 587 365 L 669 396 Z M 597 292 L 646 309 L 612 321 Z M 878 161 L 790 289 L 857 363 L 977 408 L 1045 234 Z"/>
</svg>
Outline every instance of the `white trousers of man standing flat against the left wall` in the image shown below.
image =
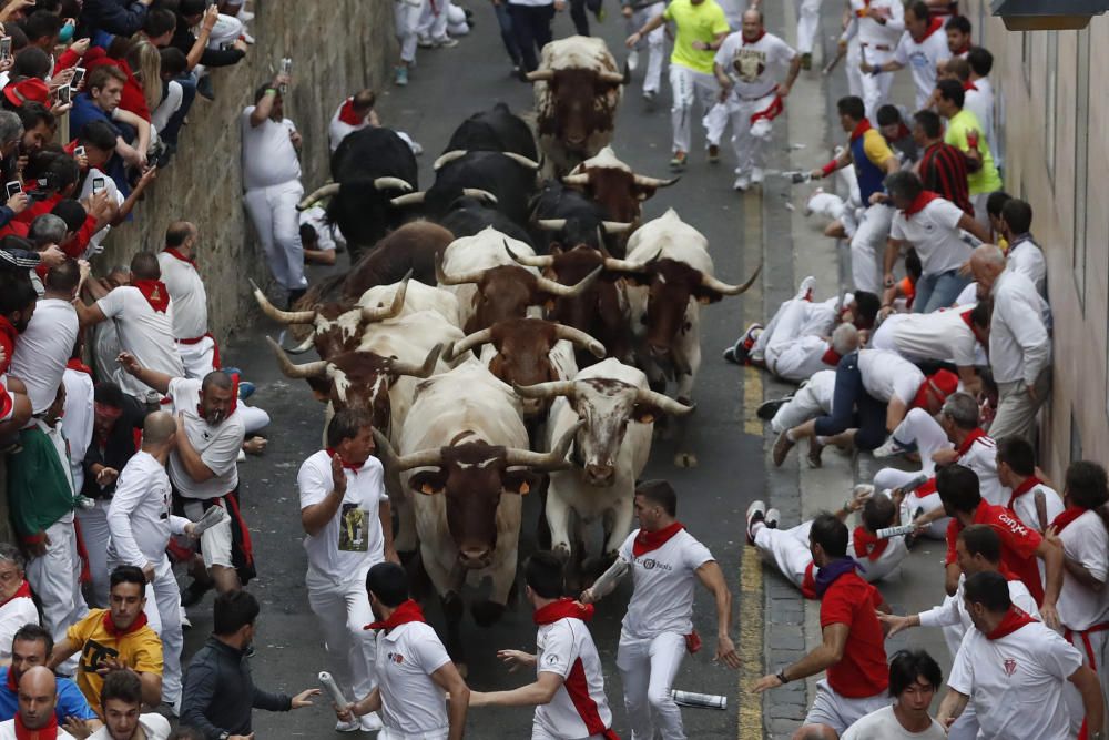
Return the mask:
<svg viewBox="0 0 1109 740">
<path fill-rule="evenodd" d="M 246 191 L 246 212 L 251 214 L 274 280 L 286 291 L 308 286 L 304 278 L 304 246 L 296 204 L 304 195 L 304 185 L 289 180 L 279 185 Z"/>
</svg>

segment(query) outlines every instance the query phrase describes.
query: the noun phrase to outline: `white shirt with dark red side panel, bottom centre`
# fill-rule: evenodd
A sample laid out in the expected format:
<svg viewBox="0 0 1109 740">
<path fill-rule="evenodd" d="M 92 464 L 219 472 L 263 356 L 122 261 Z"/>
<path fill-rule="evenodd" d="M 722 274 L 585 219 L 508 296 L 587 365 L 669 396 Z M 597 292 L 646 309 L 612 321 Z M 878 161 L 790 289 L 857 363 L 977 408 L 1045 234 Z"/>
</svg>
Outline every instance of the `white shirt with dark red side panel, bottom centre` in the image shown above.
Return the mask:
<svg viewBox="0 0 1109 740">
<path fill-rule="evenodd" d="M 551 738 L 591 738 L 611 728 L 601 659 L 586 622 L 566 617 L 540 625 L 536 646 L 536 675 L 557 673 L 563 681 L 549 704 L 536 707 L 535 723 Z"/>
</svg>

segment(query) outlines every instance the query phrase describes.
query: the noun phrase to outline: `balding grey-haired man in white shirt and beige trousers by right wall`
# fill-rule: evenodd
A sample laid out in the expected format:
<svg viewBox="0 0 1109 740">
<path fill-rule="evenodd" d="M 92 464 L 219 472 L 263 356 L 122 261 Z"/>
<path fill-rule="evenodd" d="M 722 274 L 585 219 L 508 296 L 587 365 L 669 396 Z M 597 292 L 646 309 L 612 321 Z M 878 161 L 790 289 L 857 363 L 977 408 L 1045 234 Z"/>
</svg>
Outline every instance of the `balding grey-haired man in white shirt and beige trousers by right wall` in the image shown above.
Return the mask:
<svg viewBox="0 0 1109 740">
<path fill-rule="evenodd" d="M 970 270 L 979 293 L 994 298 L 989 323 L 989 364 L 998 388 L 994 437 L 1030 437 L 1036 412 L 1051 391 L 1051 336 L 1044 325 L 1040 296 L 1025 275 L 1006 270 L 993 244 L 977 247 Z"/>
</svg>

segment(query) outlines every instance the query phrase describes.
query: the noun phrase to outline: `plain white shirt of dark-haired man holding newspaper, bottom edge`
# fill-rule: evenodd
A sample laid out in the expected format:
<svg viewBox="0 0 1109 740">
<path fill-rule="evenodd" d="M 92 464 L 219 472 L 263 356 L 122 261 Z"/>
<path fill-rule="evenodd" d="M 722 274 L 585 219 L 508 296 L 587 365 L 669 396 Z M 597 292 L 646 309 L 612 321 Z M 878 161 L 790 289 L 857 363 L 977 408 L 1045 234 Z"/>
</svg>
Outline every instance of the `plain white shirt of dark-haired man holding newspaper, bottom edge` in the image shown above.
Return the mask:
<svg viewBox="0 0 1109 740">
<path fill-rule="evenodd" d="M 385 727 L 406 734 L 448 727 L 447 695 L 431 680 L 431 673 L 448 662 L 439 636 L 421 621 L 377 633 L 375 666 Z"/>
</svg>

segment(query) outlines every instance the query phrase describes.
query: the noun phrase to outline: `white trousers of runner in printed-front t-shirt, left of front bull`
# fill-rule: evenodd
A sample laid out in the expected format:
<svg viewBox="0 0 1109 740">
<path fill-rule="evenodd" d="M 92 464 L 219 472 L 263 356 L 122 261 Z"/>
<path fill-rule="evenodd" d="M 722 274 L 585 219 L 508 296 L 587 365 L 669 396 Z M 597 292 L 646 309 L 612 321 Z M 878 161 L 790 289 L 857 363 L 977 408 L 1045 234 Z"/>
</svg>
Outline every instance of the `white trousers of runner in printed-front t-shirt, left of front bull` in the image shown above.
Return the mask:
<svg viewBox="0 0 1109 740">
<path fill-rule="evenodd" d="M 335 582 L 308 568 L 305 578 L 308 606 L 319 620 L 327 660 L 339 688 L 349 691 L 354 701 L 369 695 L 377 686 L 374 661 L 377 636 L 363 627 L 374 621 L 366 592 L 366 571 L 349 580 Z"/>
</svg>

